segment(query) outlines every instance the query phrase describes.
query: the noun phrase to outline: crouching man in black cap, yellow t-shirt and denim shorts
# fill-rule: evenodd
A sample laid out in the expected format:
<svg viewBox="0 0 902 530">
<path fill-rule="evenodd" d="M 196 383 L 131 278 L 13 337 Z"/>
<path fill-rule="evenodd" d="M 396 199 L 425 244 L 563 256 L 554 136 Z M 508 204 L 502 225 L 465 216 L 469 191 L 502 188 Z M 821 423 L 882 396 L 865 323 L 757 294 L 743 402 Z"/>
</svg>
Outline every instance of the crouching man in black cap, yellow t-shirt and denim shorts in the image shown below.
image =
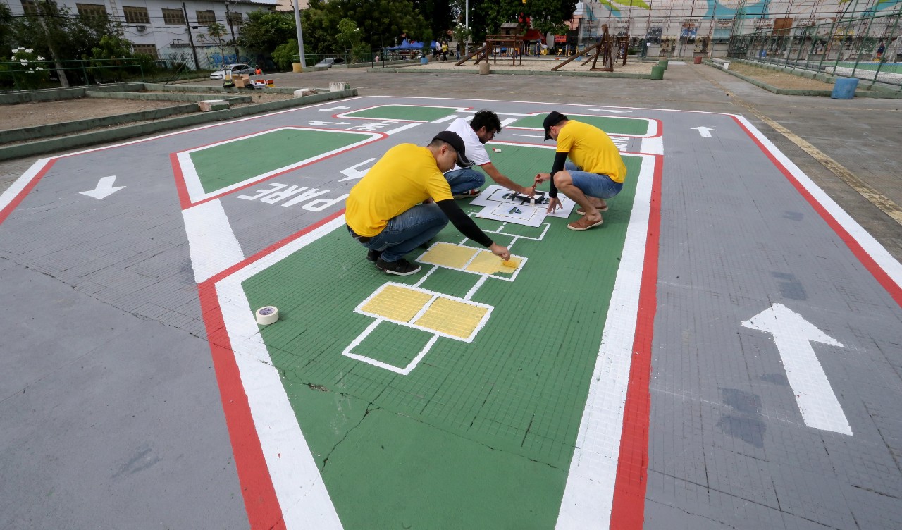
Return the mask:
<svg viewBox="0 0 902 530">
<path fill-rule="evenodd" d="M 601 129 L 588 123 L 568 120 L 557 111 L 548 113 L 542 123 L 545 140 L 557 141 L 555 163 L 550 173 L 539 173 L 536 184 L 551 180 L 548 213 L 561 206 L 557 190 L 582 206 L 576 213 L 583 218 L 567 224 L 570 230 L 584 231 L 604 222 L 602 212 L 608 209 L 604 199 L 623 189 L 626 166 L 620 151 Z M 570 160 L 567 160 L 569 158 Z M 552 178 L 554 176 L 554 178 Z"/>
</svg>

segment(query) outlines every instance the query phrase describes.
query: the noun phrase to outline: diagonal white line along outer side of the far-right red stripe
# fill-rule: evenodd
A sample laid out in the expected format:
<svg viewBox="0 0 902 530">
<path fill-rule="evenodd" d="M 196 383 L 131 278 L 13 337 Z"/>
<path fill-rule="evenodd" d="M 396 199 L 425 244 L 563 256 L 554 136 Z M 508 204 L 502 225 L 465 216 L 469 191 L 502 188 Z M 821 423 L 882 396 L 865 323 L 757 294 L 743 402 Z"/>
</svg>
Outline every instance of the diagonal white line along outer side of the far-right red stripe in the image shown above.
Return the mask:
<svg viewBox="0 0 902 530">
<path fill-rule="evenodd" d="M 818 187 L 815 182 L 805 175 L 802 169 L 799 169 L 792 160 L 789 160 L 785 154 L 778 150 L 772 142 L 770 142 L 764 134 L 752 125 L 749 120 L 738 114 L 729 114 L 739 120 L 752 133 L 761 145 L 763 145 L 771 155 L 789 171 L 796 181 L 805 188 L 805 190 L 814 197 L 815 201 L 824 206 L 824 209 L 833 216 L 842 228 L 851 235 L 851 237 L 861 245 L 861 248 L 870 255 L 870 258 L 877 263 L 877 266 L 887 273 L 887 276 L 896 282 L 897 287 L 902 288 L 902 263 L 893 258 L 893 256 L 883 247 L 874 236 L 870 235 L 861 224 L 851 218 L 841 206 L 836 204 L 833 199 L 824 193 L 824 190 Z"/>
</svg>

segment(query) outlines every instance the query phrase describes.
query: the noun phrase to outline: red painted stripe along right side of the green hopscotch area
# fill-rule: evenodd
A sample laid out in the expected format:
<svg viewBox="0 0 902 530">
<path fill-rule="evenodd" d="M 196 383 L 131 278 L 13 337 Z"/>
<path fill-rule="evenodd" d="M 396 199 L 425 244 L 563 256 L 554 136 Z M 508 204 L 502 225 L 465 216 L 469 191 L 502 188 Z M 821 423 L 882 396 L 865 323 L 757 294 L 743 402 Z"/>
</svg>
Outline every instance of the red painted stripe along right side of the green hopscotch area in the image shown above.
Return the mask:
<svg viewBox="0 0 902 530">
<path fill-rule="evenodd" d="M 634 353 L 630 363 L 630 383 L 623 407 L 623 430 L 617 459 L 617 478 L 611 509 L 611 528 L 641 530 L 645 516 L 645 489 L 649 467 L 649 416 L 651 397 L 651 342 L 658 308 L 658 242 L 661 227 L 661 174 L 664 157 L 655 157 L 651 184 L 649 233 L 645 242 L 645 262 L 639 291 Z"/>
</svg>

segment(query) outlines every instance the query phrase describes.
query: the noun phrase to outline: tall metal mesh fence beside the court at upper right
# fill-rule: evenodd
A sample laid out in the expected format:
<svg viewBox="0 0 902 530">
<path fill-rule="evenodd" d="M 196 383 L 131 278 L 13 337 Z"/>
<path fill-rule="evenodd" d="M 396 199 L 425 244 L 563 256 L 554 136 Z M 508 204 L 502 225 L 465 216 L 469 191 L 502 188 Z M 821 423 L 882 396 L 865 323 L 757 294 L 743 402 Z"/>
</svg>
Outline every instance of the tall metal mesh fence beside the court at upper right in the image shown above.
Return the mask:
<svg viewBox="0 0 902 530">
<path fill-rule="evenodd" d="M 733 35 L 727 55 L 902 87 L 900 14 Z"/>
</svg>

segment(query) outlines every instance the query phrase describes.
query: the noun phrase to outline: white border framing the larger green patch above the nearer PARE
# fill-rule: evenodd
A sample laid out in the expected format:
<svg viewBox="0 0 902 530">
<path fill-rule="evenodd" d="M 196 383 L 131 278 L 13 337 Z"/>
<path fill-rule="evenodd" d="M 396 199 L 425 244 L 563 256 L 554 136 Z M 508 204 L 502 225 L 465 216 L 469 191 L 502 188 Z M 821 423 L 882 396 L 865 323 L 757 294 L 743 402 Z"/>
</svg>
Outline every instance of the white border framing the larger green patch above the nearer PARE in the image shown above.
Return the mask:
<svg viewBox="0 0 902 530">
<path fill-rule="evenodd" d="M 211 149 L 211 148 L 214 148 L 214 147 L 217 147 L 220 145 L 224 145 L 226 143 L 242 142 L 244 140 L 253 138 L 255 136 L 279 133 L 281 131 L 313 131 L 316 133 L 360 134 L 360 135 L 364 135 L 364 136 L 369 136 L 369 138 L 365 139 L 365 140 L 361 140 L 360 142 L 350 143 L 343 147 L 333 149 L 332 151 L 327 151 L 324 153 L 320 153 L 318 155 L 314 155 L 312 157 L 309 157 L 308 159 L 298 160 L 297 162 L 292 162 L 287 166 L 283 166 L 283 167 L 277 168 L 277 169 L 272 169 L 272 171 L 267 171 L 266 173 L 256 175 L 255 177 L 245 178 L 244 180 L 242 180 L 240 182 L 235 182 L 235 184 L 214 189 L 213 191 L 211 191 L 209 193 L 207 193 L 207 191 L 204 190 L 204 186 L 200 182 L 200 176 L 198 175 L 198 170 L 194 166 L 194 160 L 191 160 L 191 153 L 198 152 L 198 151 L 206 151 L 207 149 Z M 230 138 L 229 140 L 226 140 L 223 142 L 211 143 L 209 145 L 204 145 L 202 147 L 196 147 L 196 148 L 192 148 L 192 149 L 189 149 L 186 151 L 179 151 L 176 153 L 176 157 L 179 159 L 179 166 L 181 166 L 182 178 L 185 181 L 185 188 L 188 190 L 188 195 L 191 200 L 191 203 L 197 204 L 203 200 L 206 200 L 207 198 L 210 198 L 213 196 L 221 196 L 221 195 L 224 195 L 231 191 L 234 191 L 235 189 L 238 189 L 240 187 L 246 187 L 248 184 L 253 184 L 254 182 L 259 182 L 266 178 L 270 178 L 270 177 L 272 177 L 272 175 L 283 173 L 285 171 L 289 171 L 290 169 L 295 169 L 300 166 L 307 165 L 311 162 L 315 162 L 317 160 L 326 159 L 336 153 L 339 153 L 342 151 L 350 151 L 350 150 L 353 150 L 362 145 L 366 145 L 367 143 L 376 142 L 377 140 L 381 140 L 381 139 L 382 139 L 382 133 L 366 133 L 364 131 L 339 131 L 339 130 L 333 130 L 333 129 L 316 129 L 316 128 L 311 128 L 311 127 L 293 127 L 293 126 L 279 127 L 276 129 L 270 129 L 269 131 L 263 131 L 262 133 L 248 134 L 246 136 L 240 136 L 238 138 Z"/>
</svg>

